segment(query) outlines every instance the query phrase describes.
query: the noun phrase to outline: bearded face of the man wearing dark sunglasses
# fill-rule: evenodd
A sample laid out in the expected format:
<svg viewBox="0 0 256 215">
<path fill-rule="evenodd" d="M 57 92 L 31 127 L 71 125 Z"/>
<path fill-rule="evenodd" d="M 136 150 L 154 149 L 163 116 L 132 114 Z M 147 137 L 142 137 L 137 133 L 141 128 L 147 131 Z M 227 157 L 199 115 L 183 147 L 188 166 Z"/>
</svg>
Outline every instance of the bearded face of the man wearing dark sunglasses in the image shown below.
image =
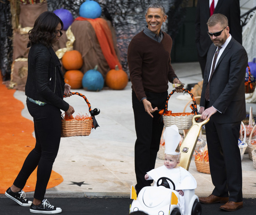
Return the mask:
<svg viewBox="0 0 256 215">
<path fill-rule="evenodd" d="M 216 32 L 220 32 L 222 31 L 222 29 L 224 29 L 225 26 L 221 26 L 220 23 L 217 23 L 214 26 L 208 26 L 208 32 L 209 33 L 216 33 Z M 215 46 L 221 46 L 223 45 L 227 38 L 229 37 L 229 27 L 227 26 L 220 34 L 220 36 L 215 37 L 214 35 L 211 36 L 211 40 L 213 41 Z"/>
</svg>

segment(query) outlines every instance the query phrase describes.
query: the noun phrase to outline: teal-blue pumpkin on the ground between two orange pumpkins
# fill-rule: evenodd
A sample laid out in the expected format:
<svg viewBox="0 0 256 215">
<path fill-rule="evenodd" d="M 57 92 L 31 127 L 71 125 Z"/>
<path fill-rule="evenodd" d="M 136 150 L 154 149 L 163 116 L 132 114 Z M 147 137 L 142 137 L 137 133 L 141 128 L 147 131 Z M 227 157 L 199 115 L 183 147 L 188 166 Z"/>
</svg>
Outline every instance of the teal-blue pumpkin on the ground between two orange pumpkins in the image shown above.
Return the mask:
<svg viewBox="0 0 256 215">
<path fill-rule="evenodd" d="M 104 86 L 104 78 L 97 71 L 98 65 L 94 69 L 88 70 L 82 79 L 83 88 L 87 91 L 100 91 Z"/>
</svg>

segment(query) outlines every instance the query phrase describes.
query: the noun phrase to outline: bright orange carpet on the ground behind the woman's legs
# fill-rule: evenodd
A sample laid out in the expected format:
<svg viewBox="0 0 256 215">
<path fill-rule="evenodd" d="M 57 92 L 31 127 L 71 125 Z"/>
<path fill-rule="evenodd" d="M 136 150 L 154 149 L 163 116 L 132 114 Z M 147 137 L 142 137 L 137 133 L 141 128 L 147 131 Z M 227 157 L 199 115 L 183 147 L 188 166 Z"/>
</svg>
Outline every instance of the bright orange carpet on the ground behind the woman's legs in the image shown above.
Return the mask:
<svg viewBox="0 0 256 215">
<path fill-rule="evenodd" d="M 0 92 L 0 194 L 4 194 L 34 148 L 35 138 L 32 136 L 33 122 L 21 115 L 23 103 L 13 97 L 15 90 L 9 90 L 2 84 L 1 74 Z M 25 192 L 35 191 L 36 170 L 27 180 L 23 189 Z M 52 171 L 47 189 L 62 181 L 62 176 Z"/>
</svg>

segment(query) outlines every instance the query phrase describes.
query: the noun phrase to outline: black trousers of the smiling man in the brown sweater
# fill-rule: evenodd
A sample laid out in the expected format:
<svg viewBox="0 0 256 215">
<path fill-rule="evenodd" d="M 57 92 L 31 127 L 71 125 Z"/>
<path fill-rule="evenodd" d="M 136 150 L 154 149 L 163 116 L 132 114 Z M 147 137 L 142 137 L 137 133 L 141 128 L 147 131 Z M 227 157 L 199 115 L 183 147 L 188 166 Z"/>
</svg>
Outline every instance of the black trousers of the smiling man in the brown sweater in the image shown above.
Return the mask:
<svg viewBox="0 0 256 215">
<path fill-rule="evenodd" d="M 158 107 L 158 110 L 160 110 L 165 107 L 167 91 L 164 93 L 146 92 L 146 95 L 153 108 Z M 155 168 L 164 124 L 158 121 L 160 117 L 158 111 L 152 113 L 153 118 L 145 111 L 143 103 L 137 99 L 134 91 L 132 91 L 132 108 L 137 136 L 134 148 L 134 163 L 137 179 L 135 189 L 138 194 L 143 187 L 150 186 L 153 182 L 153 180 L 145 180 L 145 175 Z"/>
</svg>

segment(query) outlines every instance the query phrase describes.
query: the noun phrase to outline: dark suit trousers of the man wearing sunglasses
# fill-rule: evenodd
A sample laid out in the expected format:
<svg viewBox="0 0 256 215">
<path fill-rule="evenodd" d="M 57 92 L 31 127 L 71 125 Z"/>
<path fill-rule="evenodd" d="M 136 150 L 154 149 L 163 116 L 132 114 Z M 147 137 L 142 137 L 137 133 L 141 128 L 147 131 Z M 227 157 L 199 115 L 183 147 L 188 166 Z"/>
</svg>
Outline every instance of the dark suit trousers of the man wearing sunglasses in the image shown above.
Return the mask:
<svg viewBox="0 0 256 215">
<path fill-rule="evenodd" d="M 206 103 L 206 108 L 209 103 Z M 214 115 L 205 125 L 213 195 L 242 202 L 242 163 L 238 147 L 240 122 L 218 123 Z"/>
</svg>

